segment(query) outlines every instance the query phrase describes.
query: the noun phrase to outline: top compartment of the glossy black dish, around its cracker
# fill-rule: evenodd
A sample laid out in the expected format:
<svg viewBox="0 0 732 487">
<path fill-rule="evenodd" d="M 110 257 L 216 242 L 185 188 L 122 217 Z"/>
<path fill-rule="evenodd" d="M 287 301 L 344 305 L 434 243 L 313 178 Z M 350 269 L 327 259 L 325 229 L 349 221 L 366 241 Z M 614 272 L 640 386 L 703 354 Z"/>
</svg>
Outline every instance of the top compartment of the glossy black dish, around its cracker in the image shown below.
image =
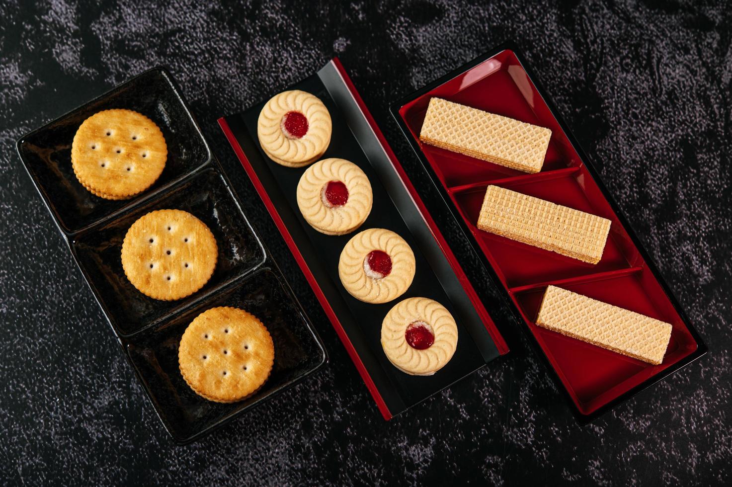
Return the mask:
<svg viewBox="0 0 732 487">
<path fill-rule="evenodd" d="M 102 110 L 127 108 L 152 119 L 165 136 L 168 160 L 148 190 L 128 200 L 94 196 L 76 179 L 71 143 L 81 123 Z M 73 234 L 153 196 L 211 161 L 211 151 L 170 75 L 157 67 L 25 135 L 18 153 L 61 231 Z"/>
</svg>

